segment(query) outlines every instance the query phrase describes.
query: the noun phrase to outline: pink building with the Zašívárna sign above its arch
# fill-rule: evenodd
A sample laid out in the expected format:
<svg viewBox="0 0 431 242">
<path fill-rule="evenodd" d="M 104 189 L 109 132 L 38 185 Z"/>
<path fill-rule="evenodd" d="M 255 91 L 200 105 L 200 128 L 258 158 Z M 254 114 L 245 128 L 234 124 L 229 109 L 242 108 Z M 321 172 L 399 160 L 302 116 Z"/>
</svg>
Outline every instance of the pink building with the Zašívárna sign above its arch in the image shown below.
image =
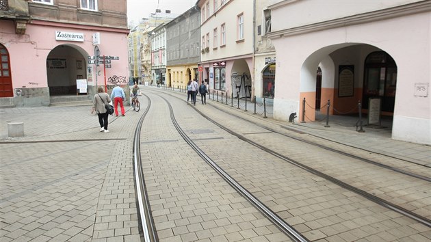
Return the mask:
<svg viewBox="0 0 431 242">
<path fill-rule="evenodd" d="M 115 18 L 122 21 L 115 24 L 103 24 L 105 10 L 111 8 L 103 3 L 95 5 L 97 9 L 92 11 L 77 6 L 72 11 L 76 15 L 66 16 L 66 10 L 54 2 L 25 1 L 28 5 L 23 8 L 28 11 L 28 19 L 13 14 L 1 17 L 0 106 L 50 105 L 53 96 L 79 95 L 91 99 L 98 85 L 106 85 L 107 89 L 116 83 L 127 85 L 129 30 L 126 1 L 121 2 L 124 8 Z M 12 5 L 14 1 L 9 3 Z M 57 12 L 57 18 L 40 16 L 40 8 Z M 105 18 L 105 22 L 109 23 L 110 18 L 113 17 Z M 21 30 L 17 23 L 23 23 Z M 101 58 L 103 55 L 118 58 L 112 58 L 105 66 L 96 65 L 93 57 L 98 54 Z"/>
</svg>

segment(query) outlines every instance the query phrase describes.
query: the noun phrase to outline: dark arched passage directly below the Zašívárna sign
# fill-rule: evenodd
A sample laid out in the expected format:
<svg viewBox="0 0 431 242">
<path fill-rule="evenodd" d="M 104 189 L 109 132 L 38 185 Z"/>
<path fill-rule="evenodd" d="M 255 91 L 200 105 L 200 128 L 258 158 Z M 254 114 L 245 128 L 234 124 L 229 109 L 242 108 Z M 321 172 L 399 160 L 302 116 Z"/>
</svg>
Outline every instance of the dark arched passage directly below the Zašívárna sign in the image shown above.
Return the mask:
<svg viewBox="0 0 431 242">
<path fill-rule="evenodd" d="M 61 44 L 47 57 L 50 96 L 77 94 L 77 79 L 87 79 L 88 53 L 74 44 Z"/>
</svg>

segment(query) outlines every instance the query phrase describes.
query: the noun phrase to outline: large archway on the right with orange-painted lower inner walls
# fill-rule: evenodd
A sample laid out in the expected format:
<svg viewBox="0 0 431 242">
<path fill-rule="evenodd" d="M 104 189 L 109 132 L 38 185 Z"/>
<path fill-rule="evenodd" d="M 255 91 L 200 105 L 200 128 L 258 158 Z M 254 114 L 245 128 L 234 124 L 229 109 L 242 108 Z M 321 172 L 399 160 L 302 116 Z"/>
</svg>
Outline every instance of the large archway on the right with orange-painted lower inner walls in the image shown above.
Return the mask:
<svg viewBox="0 0 431 242">
<path fill-rule="evenodd" d="M 352 116 L 358 112 L 366 115 L 368 98 L 380 96 L 385 107 L 382 114 L 393 116 L 397 73 L 395 61 L 389 53 L 376 46 L 345 43 L 319 49 L 302 64 L 300 100 L 306 98 L 308 105 L 301 105 L 300 112 L 305 109 L 305 121 L 316 120 L 313 109 L 317 110 L 317 68 L 322 70 L 321 113 L 326 113 L 324 104 L 329 100 L 331 115 Z M 343 75 L 346 68 L 350 73 L 348 76 Z M 358 110 L 358 101 L 362 104 L 361 110 Z"/>
</svg>

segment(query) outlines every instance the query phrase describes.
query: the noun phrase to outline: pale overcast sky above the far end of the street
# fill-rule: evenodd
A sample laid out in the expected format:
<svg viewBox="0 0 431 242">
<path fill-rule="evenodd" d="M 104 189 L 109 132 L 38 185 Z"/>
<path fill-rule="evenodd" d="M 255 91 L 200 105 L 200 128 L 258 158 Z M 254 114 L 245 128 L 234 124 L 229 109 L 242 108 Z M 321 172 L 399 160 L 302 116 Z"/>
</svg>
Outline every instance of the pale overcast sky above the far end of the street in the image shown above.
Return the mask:
<svg viewBox="0 0 431 242">
<path fill-rule="evenodd" d="M 152 12 L 158 9 L 161 12 L 170 10 L 179 15 L 194 6 L 196 0 L 127 0 L 127 21 L 129 24 L 138 25 L 141 18 L 148 18 Z"/>
</svg>

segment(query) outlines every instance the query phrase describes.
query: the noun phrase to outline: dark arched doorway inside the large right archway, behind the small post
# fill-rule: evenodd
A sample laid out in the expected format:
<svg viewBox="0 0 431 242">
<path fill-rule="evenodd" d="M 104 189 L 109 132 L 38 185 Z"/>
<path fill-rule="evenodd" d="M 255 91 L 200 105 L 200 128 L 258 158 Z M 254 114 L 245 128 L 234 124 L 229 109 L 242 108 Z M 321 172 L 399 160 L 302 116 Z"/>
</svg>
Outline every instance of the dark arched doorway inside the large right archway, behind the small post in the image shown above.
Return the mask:
<svg viewBox="0 0 431 242">
<path fill-rule="evenodd" d="M 397 85 L 397 65 L 388 53 L 369 53 L 364 63 L 363 108 L 368 109 L 369 98 L 380 98 L 381 110 L 393 113 Z"/>
</svg>

